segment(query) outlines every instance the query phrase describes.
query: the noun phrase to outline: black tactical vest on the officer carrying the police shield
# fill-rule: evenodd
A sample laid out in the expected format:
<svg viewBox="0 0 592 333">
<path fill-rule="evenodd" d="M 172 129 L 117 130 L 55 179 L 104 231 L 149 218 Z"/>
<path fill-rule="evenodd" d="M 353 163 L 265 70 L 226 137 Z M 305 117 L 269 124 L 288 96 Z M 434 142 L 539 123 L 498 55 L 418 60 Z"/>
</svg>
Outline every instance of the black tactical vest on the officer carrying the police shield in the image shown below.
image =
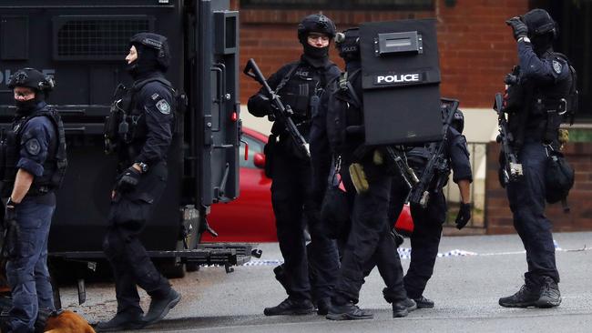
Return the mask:
<svg viewBox="0 0 592 333">
<path fill-rule="evenodd" d="M 362 100 L 352 86 L 352 82 L 360 75 L 361 69 L 350 74 L 344 72 L 328 87 L 327 137 L 336 155 L 346 153 L 352 141 L 363 143 Z"/>
</svg>

